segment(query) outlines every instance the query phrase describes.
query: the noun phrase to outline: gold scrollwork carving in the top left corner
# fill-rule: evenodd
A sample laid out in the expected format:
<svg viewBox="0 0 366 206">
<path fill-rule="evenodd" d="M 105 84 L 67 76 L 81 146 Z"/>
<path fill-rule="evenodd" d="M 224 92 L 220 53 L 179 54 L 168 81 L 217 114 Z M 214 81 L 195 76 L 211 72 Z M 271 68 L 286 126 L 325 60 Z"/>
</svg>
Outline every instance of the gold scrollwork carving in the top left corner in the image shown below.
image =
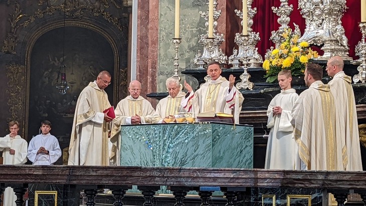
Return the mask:
<svg viewBox="0 0 366 206">
<path fill-rule="evenodd" d="M 22 14 L 23 9 L 20 9 L 18 2 L 15 2 L 14 10 L 15 10 L 14 14 L 9 15 L 10 16 L 9 22 L 10 22 L 11 30 L 10 30 L 9 34 L 7 35 L 7 37 L 5 38 L 4 45 L 2 48 L 2 52 L 7 53 L 7 54 L 17 54 L 17 52 L 15 51 L 15 47 L 17 46 L 17 42 L 18 42 L 16 32 L 19 27 L 23 26 L 23 24 L 19 24 L 19 21 L 23 17 L 27 16 L 25 14 Z"/>
</svg>

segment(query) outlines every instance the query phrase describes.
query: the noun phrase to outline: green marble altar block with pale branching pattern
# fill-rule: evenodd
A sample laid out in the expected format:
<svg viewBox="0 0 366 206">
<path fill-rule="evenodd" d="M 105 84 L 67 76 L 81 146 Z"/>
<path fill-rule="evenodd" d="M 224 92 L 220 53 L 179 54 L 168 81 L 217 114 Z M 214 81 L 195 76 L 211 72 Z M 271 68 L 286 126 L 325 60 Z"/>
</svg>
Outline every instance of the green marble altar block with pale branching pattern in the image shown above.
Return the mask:
<svg viewBox="0 0 366 206">
<path fill-rule="evenodd" d="M 121 126 L 121 165 L 253 168 L 253 127 L 143 124 Z"/>
</svg>

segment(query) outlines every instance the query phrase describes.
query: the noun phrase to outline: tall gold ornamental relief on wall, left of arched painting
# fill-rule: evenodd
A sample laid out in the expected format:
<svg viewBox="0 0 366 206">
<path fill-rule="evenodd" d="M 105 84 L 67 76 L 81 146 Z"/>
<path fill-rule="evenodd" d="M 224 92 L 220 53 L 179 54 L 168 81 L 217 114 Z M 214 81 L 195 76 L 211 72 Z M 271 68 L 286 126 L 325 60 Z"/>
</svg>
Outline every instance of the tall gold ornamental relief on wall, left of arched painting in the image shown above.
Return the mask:
<svg viewBox="0 0 366 206">
<path fill-rule="evenodd" d="M 6 65 L 8 89 L 6 93 L 9 94 L 8 105 L 11 118 L 8 120 L 20 120 L 18 112 L 21 112 L 24 104 L 24 80 L 25 80 L 25 66 L 12 63 Z"/>
</svg>

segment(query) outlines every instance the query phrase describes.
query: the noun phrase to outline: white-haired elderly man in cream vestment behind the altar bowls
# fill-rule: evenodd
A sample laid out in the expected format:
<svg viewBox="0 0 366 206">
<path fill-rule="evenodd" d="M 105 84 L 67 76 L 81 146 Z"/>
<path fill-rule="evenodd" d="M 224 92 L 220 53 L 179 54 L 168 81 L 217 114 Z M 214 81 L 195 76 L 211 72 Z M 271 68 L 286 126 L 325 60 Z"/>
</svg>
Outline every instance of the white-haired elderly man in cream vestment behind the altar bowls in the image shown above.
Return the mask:
<svg viewBox="0 0 366 206">
<path fill-rule="evenodd" d="M 155 113 L 152 116 L 152 123 L 163 123 L 163 119 L 168 116 L 178 115 L 179 112 L 190 112 L 190 108 L 184 108 L 183 106 L 188 99 L 185 98 L 186 93 L 180 91 L 179 80 L 169 77 L 166 79 L 165 85 L 169 95 L 157 104 Z"/>
</svg>

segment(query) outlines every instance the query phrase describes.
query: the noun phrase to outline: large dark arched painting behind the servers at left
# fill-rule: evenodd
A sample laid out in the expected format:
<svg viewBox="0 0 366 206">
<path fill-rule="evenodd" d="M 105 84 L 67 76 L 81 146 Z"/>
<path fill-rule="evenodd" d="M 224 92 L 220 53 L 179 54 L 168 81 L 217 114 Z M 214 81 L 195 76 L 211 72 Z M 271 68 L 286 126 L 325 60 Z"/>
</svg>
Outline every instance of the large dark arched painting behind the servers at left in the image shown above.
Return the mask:
<svg viewBox="0 0 366 206">
<path fill-rule="evenodd" d="M 69 86 L 64 95 L 56 88 L 61 82 L 62 65 L 66 65 Z M 61 149 L 69 146 L 77 98 L 102 70 L 109 71 L 113 77 L 113 51 L 101 34 L 80 27 L 65 27 L 42 35 L 31 54 L 28 140 L 40 133 L 40 123 L 47 119 L 52 122 L 51 134 L 59 139 Z M 106 92 L 112 103 L 113 81 Z"/>
</svg>

